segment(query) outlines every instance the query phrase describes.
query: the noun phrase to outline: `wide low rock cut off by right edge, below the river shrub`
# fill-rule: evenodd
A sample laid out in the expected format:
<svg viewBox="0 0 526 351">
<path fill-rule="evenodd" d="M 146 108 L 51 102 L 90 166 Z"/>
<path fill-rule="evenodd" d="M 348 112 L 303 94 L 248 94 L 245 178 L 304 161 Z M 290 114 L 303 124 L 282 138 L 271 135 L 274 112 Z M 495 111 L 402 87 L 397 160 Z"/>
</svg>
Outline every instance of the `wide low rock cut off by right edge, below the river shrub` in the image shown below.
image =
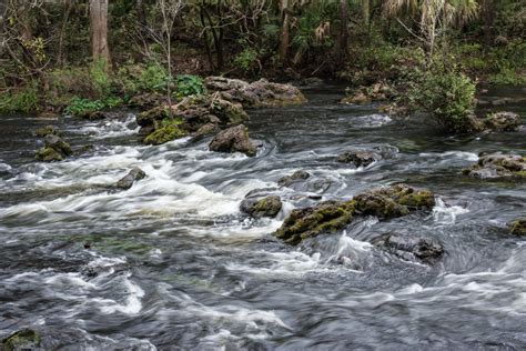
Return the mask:
<svg viewBox="0 0 526 351">
<path fill-rule="evenodd" d="M 490 153 L 483 156 L 462 173 L 478 179 L 526 178 L 526 158 L 519 154 Z"/>
</svg>

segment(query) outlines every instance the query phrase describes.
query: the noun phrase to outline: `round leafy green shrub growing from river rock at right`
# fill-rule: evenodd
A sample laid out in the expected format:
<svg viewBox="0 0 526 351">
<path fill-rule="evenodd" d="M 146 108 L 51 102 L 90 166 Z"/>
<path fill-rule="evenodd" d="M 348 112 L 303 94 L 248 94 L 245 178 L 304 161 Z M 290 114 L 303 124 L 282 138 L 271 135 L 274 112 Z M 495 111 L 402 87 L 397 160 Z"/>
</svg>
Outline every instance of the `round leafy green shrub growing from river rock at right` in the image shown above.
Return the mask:
<svg viewBox="0 0 526 351">
<path fill-rule="evenodd" d="M 479 130 L 475 109 L 475 83 L 455 67 L 435 63 L 416 76 L 409 90 L 409 101 L 421 111 L 431 113 L 452 132 Z"/>
</svg>

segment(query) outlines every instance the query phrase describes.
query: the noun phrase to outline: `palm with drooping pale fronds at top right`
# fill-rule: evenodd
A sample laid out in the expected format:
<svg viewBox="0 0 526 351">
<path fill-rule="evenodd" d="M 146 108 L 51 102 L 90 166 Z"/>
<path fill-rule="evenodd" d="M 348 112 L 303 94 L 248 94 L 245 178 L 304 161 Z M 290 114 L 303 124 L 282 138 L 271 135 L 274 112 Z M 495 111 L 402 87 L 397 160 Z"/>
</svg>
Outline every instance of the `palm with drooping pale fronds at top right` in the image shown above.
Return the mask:
<svg viewBox="0 0 526 351">
<path fill-rule="evenodd" d="M 436 39 L 445 34 L 453 24 L 462 24 L 474 19 L 478 13 L 476 0 L 385 0 L 384 11 L 396 20 L 413 36 L 425 43 L 428 58 L 433 57 Z M 419 17 L 419 33 L 413 32 L 398 16 Z"/>
</svg>

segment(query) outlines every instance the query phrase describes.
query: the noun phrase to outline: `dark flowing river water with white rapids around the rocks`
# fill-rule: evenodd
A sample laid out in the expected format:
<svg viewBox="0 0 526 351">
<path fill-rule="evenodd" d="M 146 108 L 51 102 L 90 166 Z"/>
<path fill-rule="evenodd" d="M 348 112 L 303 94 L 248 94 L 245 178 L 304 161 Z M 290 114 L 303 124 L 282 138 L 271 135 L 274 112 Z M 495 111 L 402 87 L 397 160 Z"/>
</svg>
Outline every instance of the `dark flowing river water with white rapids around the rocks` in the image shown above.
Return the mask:
<svg viewBox="0 0 526 351">
<path fill-rule="evenodd" d="M 249 111 L 263 144 L 255 158 L 210 152 L 210 139 L 142 146 L 132 114 L 2 117 L 0 339 L 28 327 L 43 349 L 526 349 L 526 241 L 506 228 L 525 213 L 526 184 L 459 173 L 479 152 L 524 153 L 525 130 L 446 137 L 337 104 L 342 91 L 311 87 L 307 104 Z M 73 147 L 94 148 L 34 162 L 32 132 L 50 123 Z M 392 156 L 357 170 L 335 161 L 372 147 Z M 135 166 L 145 179 L 108 190 Z M 312 177 L 277 188 L 295 170 Z M 316 203 L 313 194 L 350 199 L 395 182 L 431 189 L 437 204 L 299 247 L 271 235 L 293 208 Z M 277 218 L 240 213 L 261 188 L 284 201 Z M 435 238 L 445 254 L 428 267 L 370 243 L 388 232 Z"/>
</svg>

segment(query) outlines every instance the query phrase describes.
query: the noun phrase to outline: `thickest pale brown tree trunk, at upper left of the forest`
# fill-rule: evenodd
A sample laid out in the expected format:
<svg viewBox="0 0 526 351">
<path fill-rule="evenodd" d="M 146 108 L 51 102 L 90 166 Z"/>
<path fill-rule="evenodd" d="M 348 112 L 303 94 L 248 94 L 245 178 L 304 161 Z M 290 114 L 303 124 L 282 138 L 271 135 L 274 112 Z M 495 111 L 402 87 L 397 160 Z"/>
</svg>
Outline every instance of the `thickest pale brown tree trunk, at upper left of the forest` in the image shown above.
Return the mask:
<svg viewBox="0 0 526 351">
<path fill-rule="evenodd" d="M 93 61 L 110 64 L 108 46 L 108 0 L 90 0 L 90 34 Z"/>
</svg>

